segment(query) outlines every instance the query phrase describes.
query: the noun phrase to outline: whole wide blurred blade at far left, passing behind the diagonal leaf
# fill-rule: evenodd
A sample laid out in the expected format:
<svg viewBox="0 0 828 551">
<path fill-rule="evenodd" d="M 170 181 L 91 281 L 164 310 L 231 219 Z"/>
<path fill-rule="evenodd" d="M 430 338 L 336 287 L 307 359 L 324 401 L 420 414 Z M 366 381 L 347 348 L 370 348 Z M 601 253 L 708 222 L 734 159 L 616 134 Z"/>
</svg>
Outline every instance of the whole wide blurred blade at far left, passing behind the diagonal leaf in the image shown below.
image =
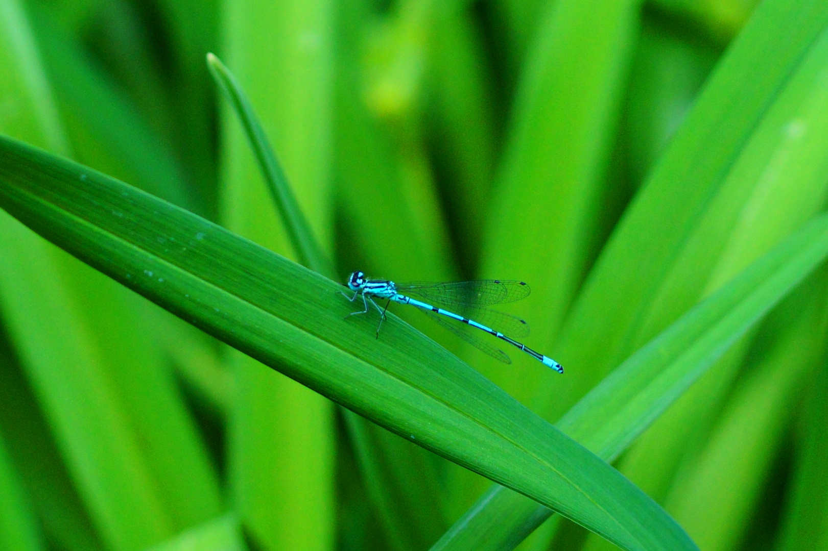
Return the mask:
<svg viewBox="0 0 828 551">
<path fill-rule="evenodd" d="M 12 22 L 19 54 L 21 37 L 31 36 L 25 21 Z M 44 99 L 45 78 L 32 76 L 41 71 L 33 53 L 22 74 L 10 70 L 3 79 L 4 97 L 20 109 L 18 120 L 3 113 L 0 127 L 41 143 L 43 129 L 60 125 Z M 26 117 L 31 126 L 20 123 Z M 214 473 L 144 332 L 140 299 L 6 214 L 0 225 L 4 321 L 100 538 L 113 549 L 136 549 L 177 523 L 216 514 Z"/>
</svg>

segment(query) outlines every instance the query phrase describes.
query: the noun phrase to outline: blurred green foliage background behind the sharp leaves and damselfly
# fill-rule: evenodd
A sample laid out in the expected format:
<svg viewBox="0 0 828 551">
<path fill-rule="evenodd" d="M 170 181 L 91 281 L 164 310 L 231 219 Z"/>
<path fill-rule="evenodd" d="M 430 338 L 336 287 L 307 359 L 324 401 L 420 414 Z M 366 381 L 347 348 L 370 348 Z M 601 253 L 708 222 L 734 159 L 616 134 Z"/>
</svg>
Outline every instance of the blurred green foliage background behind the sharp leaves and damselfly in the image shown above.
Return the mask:
<svg viewBox="0 0 828 551">
<path fill-rule="evenodd" d="M 562 377 L 398 314 L 566 427 L 825 207 L 828 7 L 757 3 L 0 0 L 0 132 L 296 259 L 216 52 L 340 280 L 529 281 L 508 311 Z M 601 455 L 703 551 L 828 549 L 826 277 Z M 0 211 L 0 549 L 417 551 L 490 484 Z M 440 549 L 546 516 L 493 518 Z M 613 549 L 559 517 L 520 545 Z"/>
</svg>

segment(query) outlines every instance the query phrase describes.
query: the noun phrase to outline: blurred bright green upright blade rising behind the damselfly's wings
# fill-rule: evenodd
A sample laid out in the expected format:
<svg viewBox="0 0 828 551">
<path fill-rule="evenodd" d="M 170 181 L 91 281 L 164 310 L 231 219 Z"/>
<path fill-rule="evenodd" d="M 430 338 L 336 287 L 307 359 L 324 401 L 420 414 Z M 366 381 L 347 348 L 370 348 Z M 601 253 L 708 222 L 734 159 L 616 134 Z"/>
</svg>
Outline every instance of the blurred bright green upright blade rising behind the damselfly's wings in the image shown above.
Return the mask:
<svg viewBox="0 0 828 551">
<path fill-rule="evenodd" d="M 532 300 L 517 304 L 510 313 L 532 323 L 527 345 L 547 350 L 544 353 L 551 357 L 551 345 L 599 247 L 597 220 L 604 210 L 640 4 L 547 2 L 515 93 L 479 276 L 533 285 Z M 575 384 L 552 382 L 550 373 L 532 366 L 528 357 L 513 357 L 522 372 L 516 377 L 513 370 L 471 350 L 464 349 L 465 357 L 474 358 L 475 367 L 524 404 L 532 403 L 542 383 Z M 563 365 L 566 368 L 566 362 Z M 548 390 L 546 395 L 558 392 Z M 462 471 L 455 474 L 459 512 L 489 482 Z"/>
</svg>

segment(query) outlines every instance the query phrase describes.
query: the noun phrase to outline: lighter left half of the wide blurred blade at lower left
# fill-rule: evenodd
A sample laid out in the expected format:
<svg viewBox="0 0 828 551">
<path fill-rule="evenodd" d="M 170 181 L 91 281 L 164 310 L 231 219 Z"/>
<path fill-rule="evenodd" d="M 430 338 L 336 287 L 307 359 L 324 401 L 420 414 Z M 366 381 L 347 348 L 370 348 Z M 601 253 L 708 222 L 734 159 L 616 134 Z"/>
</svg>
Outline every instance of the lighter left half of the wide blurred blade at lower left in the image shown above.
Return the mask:
<svg viewBox="0 0 828 551">
<path fill-rule="evenodd" d="M 101 539 L 118 551 L 164 539 L 169 517 L 55 252 L 9 216 L 0 232 L 4 320 Z"/>
</svg>

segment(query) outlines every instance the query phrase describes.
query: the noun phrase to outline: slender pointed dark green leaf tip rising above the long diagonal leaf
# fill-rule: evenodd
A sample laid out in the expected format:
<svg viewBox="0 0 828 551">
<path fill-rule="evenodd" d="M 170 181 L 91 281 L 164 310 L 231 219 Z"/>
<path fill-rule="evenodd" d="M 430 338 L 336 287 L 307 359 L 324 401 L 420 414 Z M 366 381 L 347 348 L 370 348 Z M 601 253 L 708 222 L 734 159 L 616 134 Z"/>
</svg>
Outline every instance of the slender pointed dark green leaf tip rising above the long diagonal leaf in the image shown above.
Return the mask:
<svg viewBox="0 0 828 551">
<path fill-rule="evenodd" d="M 334 278 L 334 268 L 315 239 L 299 203 L 296 202 L 291 186 L 287 183 L 285 171 L 282 170 L 282 165 L 279 164 L 276 153 L 267 140 L 253 105 L 238 85 L 236 78 L 218 57 L 207 54 L 207 66 L 215 83 L 233 107 L 233 113 L 242 123 L 245 135 L 256 155 L 259 169 L 262 170 L 262 177 L 267 183 L 267 189 L 270 190 L 273 204 L 282 215 L 282 223 L 296 254 L 296 261 L 326 277 Z"/>
</svg>

